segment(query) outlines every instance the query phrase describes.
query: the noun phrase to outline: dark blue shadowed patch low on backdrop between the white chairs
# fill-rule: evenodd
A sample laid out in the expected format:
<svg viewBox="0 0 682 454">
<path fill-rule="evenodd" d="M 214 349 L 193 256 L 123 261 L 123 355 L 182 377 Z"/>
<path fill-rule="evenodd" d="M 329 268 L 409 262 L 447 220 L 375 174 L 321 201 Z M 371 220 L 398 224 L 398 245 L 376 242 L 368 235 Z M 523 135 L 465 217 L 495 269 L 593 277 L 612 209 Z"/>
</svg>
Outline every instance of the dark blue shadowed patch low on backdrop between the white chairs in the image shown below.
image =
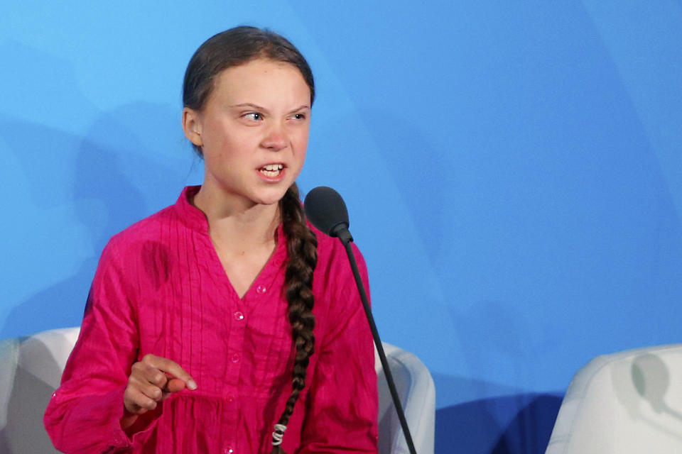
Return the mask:
<svg viewBox="0 0 682 454">
<path fill-rule="evenodd" d="M 515 394 L 439 409 L 435 452 L 542 454 L 562 399 L 556 394 Z M 504 414 L 511 414 L 511 421 L 501 421 Z"/>
</svg>

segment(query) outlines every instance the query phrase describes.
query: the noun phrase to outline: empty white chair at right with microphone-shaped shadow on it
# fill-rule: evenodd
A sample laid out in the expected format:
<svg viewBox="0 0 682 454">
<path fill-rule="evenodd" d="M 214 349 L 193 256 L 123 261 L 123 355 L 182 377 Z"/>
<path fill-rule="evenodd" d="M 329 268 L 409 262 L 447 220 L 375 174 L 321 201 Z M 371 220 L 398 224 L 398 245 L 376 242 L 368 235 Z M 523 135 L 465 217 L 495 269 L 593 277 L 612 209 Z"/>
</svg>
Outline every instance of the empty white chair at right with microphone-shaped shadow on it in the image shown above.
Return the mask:
<svg viewBox="0 0 682 454">
<path fill-rule="evenodd" d="M 546 454 L 682 453 L 682 344 L 597 356 L 570 382 Z"/>
</svg>

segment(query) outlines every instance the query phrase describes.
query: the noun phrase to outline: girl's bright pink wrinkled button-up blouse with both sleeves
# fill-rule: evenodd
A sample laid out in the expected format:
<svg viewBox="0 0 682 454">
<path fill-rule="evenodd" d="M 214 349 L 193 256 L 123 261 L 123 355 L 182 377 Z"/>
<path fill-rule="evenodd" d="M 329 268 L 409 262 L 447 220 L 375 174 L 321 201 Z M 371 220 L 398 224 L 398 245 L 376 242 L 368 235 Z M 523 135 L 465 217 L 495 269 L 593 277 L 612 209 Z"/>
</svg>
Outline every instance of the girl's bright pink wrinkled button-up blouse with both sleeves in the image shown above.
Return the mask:
<svg viewBox="0 0 682 454">
<path fill-rule="evenodd" d="M 204 214 L 178 201 L 114 236 L 92 282 L 80 338 L 45 428 L 65 453 L 269 453 L 291 393 L 294 350 L 282 295 L 286 241 L 239 299 Z M 374 350 L 345 250 L 319 231 L 317 320 L 308 378 L 284 435 L 287 453 L 376 453 Z M 367 268 L 354 249 L 367 285 Z M 133 362 L 170 358 L 198 389 L 171 395 L 121 430 Z"/>
</svg>

